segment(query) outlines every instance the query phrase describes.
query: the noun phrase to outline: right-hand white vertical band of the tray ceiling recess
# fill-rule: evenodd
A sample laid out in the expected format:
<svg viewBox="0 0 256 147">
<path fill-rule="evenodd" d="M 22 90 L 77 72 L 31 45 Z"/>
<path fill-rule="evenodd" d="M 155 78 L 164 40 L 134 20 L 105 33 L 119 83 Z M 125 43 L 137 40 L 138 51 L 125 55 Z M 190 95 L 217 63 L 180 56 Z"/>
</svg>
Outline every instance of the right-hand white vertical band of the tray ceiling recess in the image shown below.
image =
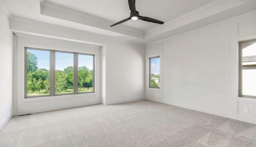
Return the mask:
<svg viewBox="0 0 256 147">
<path fill-rule="evenodd" d="M 244 0 L 215 0 L 209 4 L 206 4 L 196 10 L 188 12 L 182 16 L 179 16 L 173 20 L 166 22 L 164 25 L 159 25 L 148 31 L 146 31 L 145 39 L 160 35 L 167 31 L 182 27 L 184 25 L 202 20 L 214 14 L 218 14 L 230 8 L 240 6 L 244 4 Z"/>
</svg>

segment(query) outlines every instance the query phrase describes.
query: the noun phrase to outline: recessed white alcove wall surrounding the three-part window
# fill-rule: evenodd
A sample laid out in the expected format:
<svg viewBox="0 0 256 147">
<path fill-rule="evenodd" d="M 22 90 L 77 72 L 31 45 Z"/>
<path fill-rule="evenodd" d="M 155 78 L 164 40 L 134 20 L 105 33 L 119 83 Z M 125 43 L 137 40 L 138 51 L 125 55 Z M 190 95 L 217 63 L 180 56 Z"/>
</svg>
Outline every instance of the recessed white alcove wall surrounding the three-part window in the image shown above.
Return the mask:
<svg viewBox="0 0 256 147">
<path fill-rule="evenodd" d="M 36 37 L 32 35 L 18 35 L 17 49 L 14 53 L 17 55 L 17 114 L 30 114 L 92 104 L 100 104 L 100 66 L 99 66 L 99 47 L 58 39 L 49 39 L 46 37 Z M 75 94 L 65 96 L 49 96 L 43 98 L 24 98 L 25 97 L 25 47 L 40 49 L 50 49 L 58 51 L 70 51 L 77 53 L 88 53 L 95 55 L 95 93 Z M 14 105 L 15 107 L 16 105 Z"/>
</svg>

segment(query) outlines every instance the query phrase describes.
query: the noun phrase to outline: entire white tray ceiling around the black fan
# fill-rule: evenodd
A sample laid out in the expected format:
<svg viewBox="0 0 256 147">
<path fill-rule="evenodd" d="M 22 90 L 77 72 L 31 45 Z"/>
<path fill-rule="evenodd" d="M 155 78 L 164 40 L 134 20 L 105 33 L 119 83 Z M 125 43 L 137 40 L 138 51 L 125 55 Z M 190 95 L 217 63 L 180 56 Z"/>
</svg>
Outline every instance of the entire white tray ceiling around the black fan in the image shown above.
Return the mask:
<svg viewBox="0 0 256 147">
<path fill-rule="evenodd" d="M 128 0 L 1 1 L 10 12 L 11 20 L 64 27 L 141 44 L 256 10 L 256 0 L 136 0 L 140 15 L 166 23 L 129 20 L 109 27 L 130 16 Z"/>
</svg>

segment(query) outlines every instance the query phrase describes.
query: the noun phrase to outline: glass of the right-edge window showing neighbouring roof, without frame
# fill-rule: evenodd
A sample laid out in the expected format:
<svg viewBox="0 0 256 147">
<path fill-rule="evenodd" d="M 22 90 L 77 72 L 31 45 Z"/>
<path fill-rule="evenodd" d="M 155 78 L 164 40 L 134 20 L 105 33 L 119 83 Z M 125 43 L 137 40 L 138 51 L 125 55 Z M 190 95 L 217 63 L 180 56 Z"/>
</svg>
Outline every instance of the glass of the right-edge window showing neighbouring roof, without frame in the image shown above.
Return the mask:
<svg viewBox="0 0 256 147">
<path fill-rule="evenodd" d="M 256 96 L 256 42 L 242 44 L 242 94 Z"/>
</svg>

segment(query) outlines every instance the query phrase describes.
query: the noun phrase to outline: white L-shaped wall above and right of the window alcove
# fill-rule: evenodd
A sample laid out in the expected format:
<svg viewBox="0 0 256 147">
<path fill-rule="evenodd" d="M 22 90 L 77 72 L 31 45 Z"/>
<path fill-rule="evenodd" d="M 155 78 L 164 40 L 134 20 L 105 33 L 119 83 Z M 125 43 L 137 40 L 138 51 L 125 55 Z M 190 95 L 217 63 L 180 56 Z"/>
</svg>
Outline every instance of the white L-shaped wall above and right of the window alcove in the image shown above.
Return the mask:
<svg viewBox="0 0 256 147">
<path fill-rule="evenodd" d="M 10 20 L 15 33 L 100 45 L 102 87 L 101 101 L 116 104 L 144 99 L 144 45 L 92 35 L 70 28 L 36 22 Z M 102 51 L 104 50 L 104 51 Z M 104 67 L 105 66 L 105 67 Z M 104 75 L 105 73 L 105 75 Z M 104 91 L 105 88 L 105 91 Z"/>
</svg>

